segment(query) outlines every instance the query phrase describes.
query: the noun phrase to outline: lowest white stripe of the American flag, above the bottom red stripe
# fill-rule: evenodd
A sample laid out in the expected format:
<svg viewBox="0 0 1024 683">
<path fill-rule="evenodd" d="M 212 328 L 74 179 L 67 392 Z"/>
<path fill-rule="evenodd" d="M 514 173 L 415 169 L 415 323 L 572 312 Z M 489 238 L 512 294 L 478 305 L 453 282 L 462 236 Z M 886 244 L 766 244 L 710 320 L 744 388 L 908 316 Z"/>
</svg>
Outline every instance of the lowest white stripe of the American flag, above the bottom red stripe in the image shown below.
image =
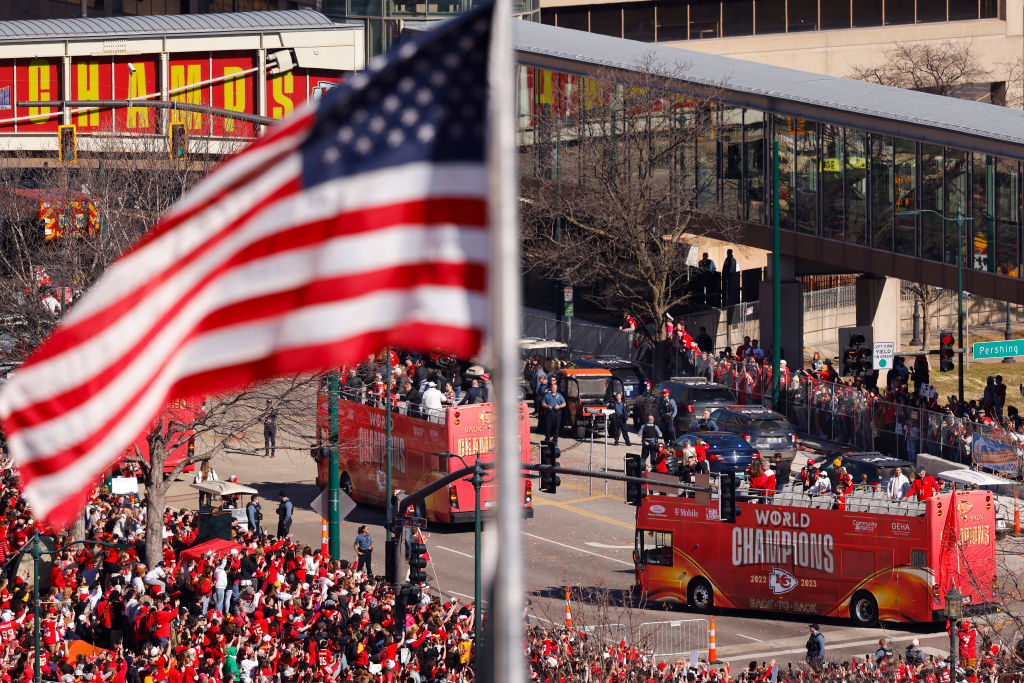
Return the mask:
<svg viewBox="0 0 1024 683">
<path fill-rule="evenodd" d="M 416 314 L 410 311 L 419 307 Z M 325 305 L 309 306 L 286 315 L 214 331 L 201 335 L 180 346 L 167 368 L 147 386 L 145 393 L 125 414 L 94 449 L 84 454 L 68 467 L 53 474 L 34 479 L 26 486 L 26 498 L 37 516 L 47 515 L 56 505 L 81 489 L 83 482 L 98 476 L 110 462 L 117 458 L 123 446 L 140 433 L 150 423 L 152 415 L 162 408 L 168 388 L 180 377 L 203 372 L 206 368 L 236 365 L 263 357 L 268 353 L 267 339 L 275 339 L 271 352 L 310 345 L 337 343 L 375 330 L 385 330 L 416 321 L 459 328 L 479 327 L 486 319 L 485 294 L 467 294 L 459 287 L 421 287 L 400 291 L 378 291 L 362 297 Z M 285 337 L 278 337 L 284 328 Z M 207 358 L 216 353 L 220 362 L 208 364 Z M 226 355 L 223 355 L 225 354 Z M 68 428 L 68 425 L 62 425 Z M 51 430 L 61 425 L 48 425 L 45 432 L 39 429 L 23 430 L 11 437 L 12 446 L 20 453 L 47 450 L 52 438 Z M 90 430 L 92 431 L 92 430 Z"/>
</svg>

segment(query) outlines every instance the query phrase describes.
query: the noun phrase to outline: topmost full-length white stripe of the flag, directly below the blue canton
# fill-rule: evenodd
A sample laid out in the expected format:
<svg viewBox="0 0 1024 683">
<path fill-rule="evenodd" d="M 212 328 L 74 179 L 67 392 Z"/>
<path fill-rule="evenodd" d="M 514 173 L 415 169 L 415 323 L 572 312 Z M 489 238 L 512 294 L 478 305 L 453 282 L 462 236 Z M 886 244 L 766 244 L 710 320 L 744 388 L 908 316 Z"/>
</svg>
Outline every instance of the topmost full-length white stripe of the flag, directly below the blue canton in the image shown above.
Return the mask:
<svg viewBox="0 0 1024 683">
<path fill-rule="evenodd" d="M 447 187 L 458 186 L 463 188 L 465 197 L 482 197 L 482 191 L 475 196 L 471 194 L 482 189 L 481 178 L 485 176 L 480 172 L 479 165 L 457 164 L 453 167 L 439 169 L 435 166 L 415 164 L 402 167 L 401 170 L 403 172 L 399 174 L 401 176 L 400 182 L 391 184 L 398 189 L 398 191 L 393 193 L 393 196 L 398 198 L 395 201 L 398 202 L 410 201 L 416 197 L 415 194 L 410 195 L 408 186 L 402 187 L 402 184 L 418 184 L 419 188 L 423 190 L 424 185 L 429 183 L 432 185 L 430 189 L 435 195 L 443 197 L 454 195 L 453 191 L 445 191 Z M 434 177 L 438 174 L 442 176 L 439 179 Z M 282 229 L 288 229 L 296 223 L 302 224 L 328 218 L 342 209 L 346 211 L 358 210 L 390 203 L 384 193 L 379 190 L 379 185 L 375 188 L 376 191 L 371 191 L 369 187 L 365 186 L 365 183 L 351 183 L 351 180 L 352 178 L 342 178 L 323 183 L 268 207 L 267 210 L 253 216 L 248 223 L 237 228 L 229 238 L 221 241 L 214 248 L 201 252 L 198 259 L 174 273 L 144 299 L 136 302 L 131 311 L 98 334 L 43 362 L 26 366 L 18 371 L 18 374 L 23 376 L 23 381 L 18 383 L 19 391 L 16 393 L 7 391 L 0 394 L 0 401 L 2 401 L 0 402 L 0 414 L 6 416 L 13 411 L 47 400 L 88 382 L 94 376 L 102 373 L 114 360 L 127 353 L 140 339 L 151 335 L 155 321 L 167 311 L 175 309 L 180 304 L 184 293 L 193 289 L 197 282 L 246 245 Z M 429 198 L 431 194 L 421 191 L 420 196 Z M 359 202 L 359 200 L 371 199 L 376 201 L 375 204 L 361 204 Z M 349 207 L 352 208 L 349 209 Z M 184 223 L 176 230 L 183 227 L 185 227 Z M 197 229 L 199 229 L 198 226 Z M 171 245 L 166 246 L 171 247 Z M 368 270 L 377 267 L 376 262 L 356 263 L 355 265 L 365 265 Z M 145 270 L 145 268 L 136 267 Z M 322 264 L 321 267 L 326 267 L 326 264 Z M 153 272 L 153 270 L 148 271 Z M 82 305 L 84 306 L 85 301 L 89 301 L 93 295 L 101 294 L 100 290 L 103 293 L 110 292 L 112 298 L 124 296 L 124 293 L 128 291 L 126 287 L 122 286 L 119 278 L 112 276 L 108 280 L 104 275 L 95 291 L 89 293 L 89 297 L 86 297 Z M 96 298 L 98 299 L 98 297 Z M 198 304 L 197 301 L 193 306 L 198 306 Z M 78 312 L 77 308 L 73 310 Z"/>
</svg>

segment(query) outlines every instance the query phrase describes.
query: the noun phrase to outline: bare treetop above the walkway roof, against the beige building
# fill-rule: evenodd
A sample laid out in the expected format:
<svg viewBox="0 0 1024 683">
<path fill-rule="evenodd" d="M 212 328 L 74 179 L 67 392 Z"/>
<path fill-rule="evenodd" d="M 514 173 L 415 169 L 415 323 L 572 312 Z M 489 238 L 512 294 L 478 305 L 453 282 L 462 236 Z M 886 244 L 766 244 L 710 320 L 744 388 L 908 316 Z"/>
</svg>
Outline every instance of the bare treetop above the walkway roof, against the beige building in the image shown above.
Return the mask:
<svg viewBox="0 0 1024 683">
<path fill-rule="evenodd" d="M 971 83 L 987 81 L 989 72 L 970 43 L 897 43 L 872 66 L 854 67 L 848 78 L 936 95 L 955 95 Z"/>
</svg>

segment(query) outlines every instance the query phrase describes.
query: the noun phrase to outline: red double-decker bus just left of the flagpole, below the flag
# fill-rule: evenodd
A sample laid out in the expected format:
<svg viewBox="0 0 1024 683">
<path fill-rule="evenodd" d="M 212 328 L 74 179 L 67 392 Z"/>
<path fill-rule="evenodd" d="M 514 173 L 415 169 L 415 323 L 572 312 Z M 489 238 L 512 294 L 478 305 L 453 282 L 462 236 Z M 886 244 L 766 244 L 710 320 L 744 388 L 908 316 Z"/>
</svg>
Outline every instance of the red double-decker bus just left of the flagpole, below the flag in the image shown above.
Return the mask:
<svg viewBox="0 0 1024 683">
<path fill-rule="evenodd" d="M 322 489 L 328 484 L 329 398 L 328 380 L 324 378 L 316 396 L 318 443 L 313 450 L 317 461 L 316 484 Z M 523 463 L 529 463 L 529 410 L 525 403 L 519 403 L 518 414 L 520 457 Z M 396 489 L 413 493 L 449 472 L 462 469 L 463 461 L 445 454 L 461 456 L 466 465 L 473 465 L 477 456 L 485 463 L 495 460 L 497 425 L 493 403 L 446 408 L 437 415 L 399 404 L 398 412 L 392 412 L 391 418 L 391 478 Z M 374 404 L 362 392 L 342 390 L 338 401 L 338 436 L 342 490 L 356 503 L 383 507 L 387 496 L 384 409 Z M 530 480 L 524 478 L 521 487 L 522 505 L 529 517 L 534 514 Z M 494 507 L 497 499 L 497 483 L 484 482 L 480 488 L 480 504 L 484 510 Z M 473 521 L 475 511 L 472 483 L 458 479 L 428 496 L 416 515 L 451 524 Z"/>
</svg>

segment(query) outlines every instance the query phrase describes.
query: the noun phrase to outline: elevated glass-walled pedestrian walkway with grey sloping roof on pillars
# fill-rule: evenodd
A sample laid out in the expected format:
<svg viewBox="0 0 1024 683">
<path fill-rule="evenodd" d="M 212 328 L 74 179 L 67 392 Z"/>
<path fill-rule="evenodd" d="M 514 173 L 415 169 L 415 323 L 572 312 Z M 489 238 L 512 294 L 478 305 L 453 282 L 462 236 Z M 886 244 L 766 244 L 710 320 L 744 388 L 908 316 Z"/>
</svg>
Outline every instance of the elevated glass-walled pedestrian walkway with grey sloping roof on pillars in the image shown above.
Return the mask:
<svg viewBox="0 0 1024 683">
<path fill-rule="evenodd" d="M 521 119 L 559 106 L 573 91 L 559 83 L 649 73 L 652 63 L 668 68 L 664 79 L 681 93 L 715 88 L 716 132 L 688 151 L 698 167 L 689 181 L 713 176 L 702 201 L 740 223 L 738 242 L 766 250 L 778 141 L 791 362 L 803 346 L 798 275 L 861 273 L 857 324 L 874 325 L 874 338 L 887 340 L 898 328 L 895 279 L 956 289 L 956 223 L 899 212 L 952 217 L 963 207 L 965 290 L 1024 303 L 1024 112 L 523 22 L 514 45 Z M 570 185 L 571 169 L 562 173 Z M 762 296 L 762 321 L 771 319 L 770 305 Z"/>
</svg>

